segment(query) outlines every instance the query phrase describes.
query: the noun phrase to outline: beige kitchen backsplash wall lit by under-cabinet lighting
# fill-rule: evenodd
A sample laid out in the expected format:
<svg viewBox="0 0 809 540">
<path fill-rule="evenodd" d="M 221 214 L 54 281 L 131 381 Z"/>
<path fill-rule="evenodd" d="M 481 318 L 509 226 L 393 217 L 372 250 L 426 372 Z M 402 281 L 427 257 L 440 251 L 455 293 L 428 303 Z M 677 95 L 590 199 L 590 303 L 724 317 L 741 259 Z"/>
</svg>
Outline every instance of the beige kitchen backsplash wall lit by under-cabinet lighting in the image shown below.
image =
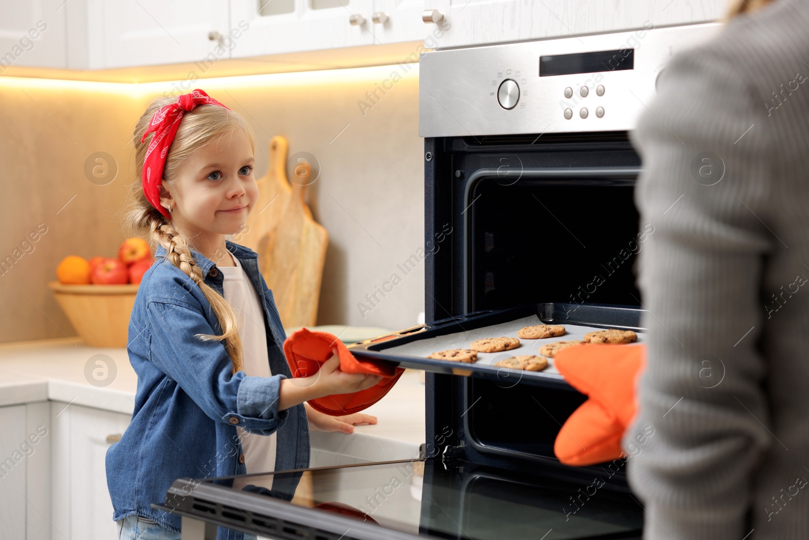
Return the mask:
<svg viewBox="0 0 809 540">
<path fill-rule="evenodd" d="M 121 206 L 140 181 L 133 126 L 151 97 L 186 87 L 250 122 L 256 178 L 273 135 L 316 159 L 308 202 L 329 235 L 318 324 L 416 324 L 430 253 L 417 65 L 142 85 L 0 78 L 0 342 L 76 335 L 46 283 L 67 255 L 116 255 Z"/>
</svg>

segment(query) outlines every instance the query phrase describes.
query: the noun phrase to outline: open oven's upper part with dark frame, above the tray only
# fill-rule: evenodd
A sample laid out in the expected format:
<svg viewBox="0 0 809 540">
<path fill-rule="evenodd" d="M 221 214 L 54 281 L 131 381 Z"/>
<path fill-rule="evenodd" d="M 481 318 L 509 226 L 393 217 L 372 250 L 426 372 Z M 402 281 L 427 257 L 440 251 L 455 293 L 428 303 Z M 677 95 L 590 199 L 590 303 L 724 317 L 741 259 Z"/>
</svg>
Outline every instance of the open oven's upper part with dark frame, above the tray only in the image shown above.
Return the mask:
<svg viewBox="0 0 809 540">
<path fill-rule="evenodd" d="M 640 157 L 625 132 L 425 139 L 426 321 L 640 304 Z M 651 229 L 653 230 L 653 229 Z"/>
</svg>

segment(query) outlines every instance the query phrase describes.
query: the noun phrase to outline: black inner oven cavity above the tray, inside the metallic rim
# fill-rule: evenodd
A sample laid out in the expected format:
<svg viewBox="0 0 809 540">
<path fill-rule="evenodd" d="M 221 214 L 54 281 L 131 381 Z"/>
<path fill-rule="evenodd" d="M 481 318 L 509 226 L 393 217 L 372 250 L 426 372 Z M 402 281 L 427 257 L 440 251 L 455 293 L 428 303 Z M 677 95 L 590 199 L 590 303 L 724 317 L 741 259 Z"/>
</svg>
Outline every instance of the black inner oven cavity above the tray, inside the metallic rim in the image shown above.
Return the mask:
<svg viewBox="0 0 809 540">
<path fill-rule="evenodd" d="M 471 190 L 472 311 L 536 302 L 639 304 L 633 262 L 642 244 L 629 179 L 505 180 L 484 177 Z"/>
</svg>

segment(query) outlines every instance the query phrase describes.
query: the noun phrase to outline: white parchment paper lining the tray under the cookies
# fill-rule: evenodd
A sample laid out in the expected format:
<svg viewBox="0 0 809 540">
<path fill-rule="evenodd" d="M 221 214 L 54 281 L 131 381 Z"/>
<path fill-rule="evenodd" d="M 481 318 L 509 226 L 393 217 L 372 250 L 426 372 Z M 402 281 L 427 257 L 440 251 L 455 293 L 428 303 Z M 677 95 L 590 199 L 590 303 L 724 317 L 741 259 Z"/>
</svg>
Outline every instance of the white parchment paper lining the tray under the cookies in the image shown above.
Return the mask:
<svg viewBox="0 0 809 540">
<path fill-rule="evenodd" d="M 476 339 L 484 339 L 484 338 L 500 338 L 502 336 L 506 336 L 508 338 L 517 338 L 517 331 L 525 326 L 532 326 L 532 325 L 543 325 L 546 324 L 540 321 L 539 317 L 536 315 L 531 315 L 529 317 L 523 317 L 521 319 L 516 319 L 515 321 L 510 322 L 502 322 L 498 325 L 490 325 L 484 326 L 483 328 L 476 328 L 473 330 L 466 330 L 462 332 L 457 332 L 455 334 L 446 334 L 443 336 L 437 336 L 435 338 L 426 338 L 426 339 L 419 339 L 414 342 L 405 343 L 404 345 L 397 345 L 396 347 L 390 347 L 387 349 L 383 349 L 380 352 L 384 352 L 386 354 L 391 355 L 404 355 L 404 356 L 415 356 L 425 358 L 437 351 L 444 351 L 446 349 L 468 349 L 469 345 L 472 344 L 473 341 Z M 556 324 L 556 323 L 550 323 Z M 511 349 L 510 351 L 500 351 L 500 352 L 479 352 L 477 353 L 477 362 L 475 364 L 480 365 L 491 365 L 498 360 L 508 358 L 509 356 L 520 356 L 520 355 L 540 355 L 539 349 L 545 343 L 552 343 L 557 341 L 573 341 L 575 339 L 583 339 L 584 334 L 588 332 L 593 332 L 595 330 L 605 330 L 604 328 L 595 328 L 594 326 L 577 326 L 577 325 L 562 325 L 565 327 L 565 331 L 567 332 L 563 336 L 559 336 L 557 338 L 543 338 L 543 339 L 519 339 L 519 347 L 516 349 Z M 643 342 L 644 335 L 637 334 L 637 342 Z M 624 347 L 632 347 L 634 344 L 627 344 Z M 448 364 L 453 364 L 459 368 L 462 368 L 464 364 L 460 362 L 450 362 L 447 360 Z M 556 373 L 557 368 L 553 365 L 553 358 L 548 359 L 548 367 L 542 370 L 543 373 Z"/>
</svg>

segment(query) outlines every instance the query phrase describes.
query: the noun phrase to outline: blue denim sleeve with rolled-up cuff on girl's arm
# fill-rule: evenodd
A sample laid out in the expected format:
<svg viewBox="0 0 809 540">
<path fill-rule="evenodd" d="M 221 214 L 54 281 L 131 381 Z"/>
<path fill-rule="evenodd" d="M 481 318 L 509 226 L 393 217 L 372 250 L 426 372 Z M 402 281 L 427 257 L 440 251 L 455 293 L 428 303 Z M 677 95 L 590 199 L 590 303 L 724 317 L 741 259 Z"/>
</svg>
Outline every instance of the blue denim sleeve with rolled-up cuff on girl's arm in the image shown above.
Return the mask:
<svg viewBox="0 0 809 540">
<path fill-rule="evenodd" d="M 271 435 L 283 426 L 289 411 L 278 410 L 278 397 L 286 376 L 233 373 L 224 342 L 197 338 L 197 334 L 216 333 L 202 313 L 188 304 L 151 301 L 146 317 L 150 360 L 210 419 L 260 435 Z"/>
</svg>

